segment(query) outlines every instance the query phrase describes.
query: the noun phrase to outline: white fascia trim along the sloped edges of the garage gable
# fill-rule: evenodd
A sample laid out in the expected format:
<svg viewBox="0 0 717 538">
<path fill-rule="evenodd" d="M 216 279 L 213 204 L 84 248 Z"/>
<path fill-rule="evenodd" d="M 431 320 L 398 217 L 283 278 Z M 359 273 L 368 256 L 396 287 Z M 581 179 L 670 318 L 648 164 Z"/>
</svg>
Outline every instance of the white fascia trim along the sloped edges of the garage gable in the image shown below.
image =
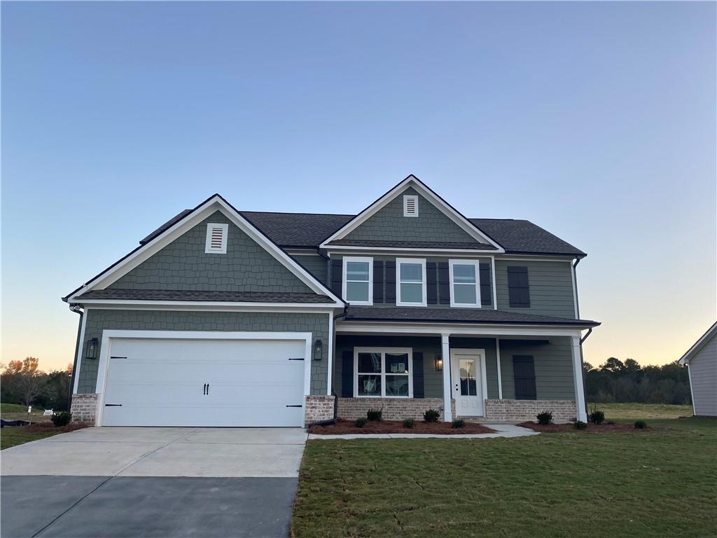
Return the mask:
<svg viewBox="0 0 717 538">
<path fill-rule="evenodd" d="M 255 240 L 255 242 L 257 242 L 268 253 L 270 253 L 277 261 L 282 263 L 282 265 L 288 268 L 288 270 L 290 270 L 293 275 L 295 275 L 299 280 L 301 280 L 305 285 L 307 285 L 308 288 L 310 288 L 312 291 L 318 293 L 319 295 L 326 295 L 330 297 L 332 301 L 335 301 L 335 303 L 341 303 L 341 306 L 344 305 L 343 301 L 341 301 L 340 298 L 334 295 L 330 289 L 328 289 L 325 285 L 323 285 L 312 275 L 310 275 L 310 273 L 308 273 L 304 268 L 302 268 L 298 263 L 296 263 L 296 261 L 291 258 L 290 255 L 281 250 L 280 247 L 277 247 L 275 243 L 271 242 L 264 234 L 262 234 L 262 232 L 257 230 L 256 227 L 254 227 L 249 221 L 244 219 L 242 215 L 235 211 L 233 207 L 227 204 L 227 202 L 224 202 L 224 199 L 219 196 L 214 196 L 210 198 L 209 200 L 204 202 L 204 204 L 201 204 L 200 207 L 194 209 L 194 212 L 192 212 L 190 215 L 180 220 L 175 225 L 169 227 L 167 230 L 162 232 L 153 240 L 147 242 L 145 245 L 138 248 L 132 254 L 128 255 L 128 257 L 125 258 L 125 260 L 123 260 L 121 263 L 118 263 L 117 265 L 108 268 L 103 273 L 98 275 L 98 277 L 94 278 L 89 283 L 82 286 L 82 288 L 75 291 L 75 293 L 72 293 L 72 296 L 67 298 L 67 302 L 77 302 L 75 300 L 77 296 L 80 296 L 82 295 L 82 293 L 85 293 L 92 289 L 106 288 L 108 285 L 121 278 L 133 268 L 136 268 L 137 265 L 140 265 L 143 261 L 147 260 L 152 255 L 158 253 L 158 251 L 161 250 L 163 247 L 166 247 L 166 245 L 176 240 L 177 237 L 199 224 L 199 222 L 204 220 L 206 217 L 209 217 L 210 214 L 214 213 L 217 210 L 220 210 L 225 216 L 229 218 L 229 220 L 234 223 L 234 225 L 239 228 L 239 230 L 242 230 L 242 232 L 249 235 L 252 240 Z"/>
</svg>

